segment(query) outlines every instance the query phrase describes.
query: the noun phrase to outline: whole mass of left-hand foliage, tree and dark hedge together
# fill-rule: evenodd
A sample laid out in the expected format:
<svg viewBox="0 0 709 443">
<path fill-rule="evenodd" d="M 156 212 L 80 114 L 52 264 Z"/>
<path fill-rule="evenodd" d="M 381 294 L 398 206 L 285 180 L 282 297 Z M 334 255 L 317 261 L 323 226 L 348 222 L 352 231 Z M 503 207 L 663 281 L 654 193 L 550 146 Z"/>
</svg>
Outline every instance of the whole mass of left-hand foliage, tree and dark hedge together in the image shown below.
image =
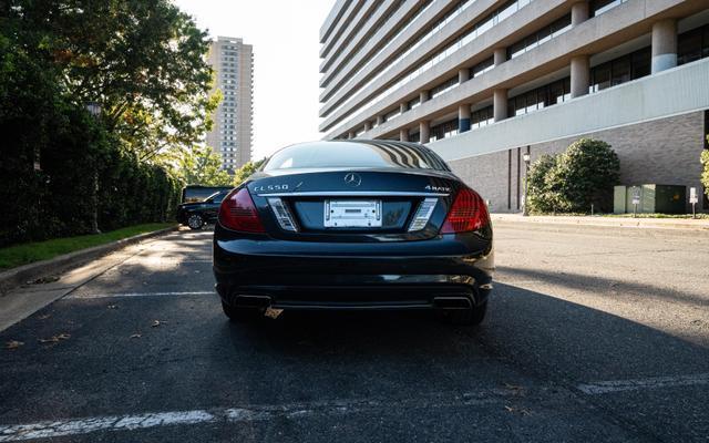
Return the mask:
<svg viewBox="0 0 709 443">
<path fill-rule="evenodd" d="M 151 156 L 208 127 L 206 50 L 167 0 L 1 1 L 0 246 L 169 217 L 182 185 Z"/>
</svg>

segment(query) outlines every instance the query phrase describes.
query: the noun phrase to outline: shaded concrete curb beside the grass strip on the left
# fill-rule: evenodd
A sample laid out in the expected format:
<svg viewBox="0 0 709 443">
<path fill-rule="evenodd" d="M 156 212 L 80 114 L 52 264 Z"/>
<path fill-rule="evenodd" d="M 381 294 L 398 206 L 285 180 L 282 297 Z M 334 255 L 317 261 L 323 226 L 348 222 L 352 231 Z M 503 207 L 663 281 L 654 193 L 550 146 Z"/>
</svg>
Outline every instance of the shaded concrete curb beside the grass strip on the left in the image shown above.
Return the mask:
<svg viewBox="0 0 709 443">
<path fill-rule="evenodd" d="M 106 254 L 141 243 L 148 238 L 165 235 L 173 230 L 177 230 L 178 228 L 179 225 L 175 225 L 165 229 L 154 230 L 152 233 L 138 234 L 136 236 L 122 238 L 105 245 L 63 254 L 61 256 L 50 258 L 49 260 L 35 261 L 2 271 L 0 272 L 0 296 L 4 295 L 10 289 L 25 284 L 27 281 L 35 280 L 42 276 L 58 274 L 71 267 L 83 265 L 94 258 L 102 257 Z"/>
</svg>

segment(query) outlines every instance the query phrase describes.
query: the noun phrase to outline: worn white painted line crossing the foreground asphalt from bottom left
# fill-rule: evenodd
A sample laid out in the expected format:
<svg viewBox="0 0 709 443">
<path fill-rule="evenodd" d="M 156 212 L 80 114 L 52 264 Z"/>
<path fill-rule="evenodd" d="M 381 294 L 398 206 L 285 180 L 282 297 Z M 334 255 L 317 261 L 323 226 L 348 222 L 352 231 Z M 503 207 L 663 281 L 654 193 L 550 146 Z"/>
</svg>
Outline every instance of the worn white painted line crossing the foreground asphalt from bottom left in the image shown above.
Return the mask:
<svg viewBox="0 0 709 443">
<path fill-rule="evenodd" d="M 312 415 L 346 415 L 372 409 L 391 408 L 449 408 L 502 402 L 516 396 L 511 390 L 493 389 L 465 394 L 432 394 L 400 401 L 333 400 L 311 403 L 244 406 L 228 409 L 147 412 L 142 414 L 109 415 L 84 419 L 53 420 L 29 424 L 0 425 L 0 442 L 32 439 L 52 439 L 81 435 L 97 431 L 133 431 L 158 426 L 208 423 L 243 423 L 273 419 L 299 419 Z"/>
</svg>

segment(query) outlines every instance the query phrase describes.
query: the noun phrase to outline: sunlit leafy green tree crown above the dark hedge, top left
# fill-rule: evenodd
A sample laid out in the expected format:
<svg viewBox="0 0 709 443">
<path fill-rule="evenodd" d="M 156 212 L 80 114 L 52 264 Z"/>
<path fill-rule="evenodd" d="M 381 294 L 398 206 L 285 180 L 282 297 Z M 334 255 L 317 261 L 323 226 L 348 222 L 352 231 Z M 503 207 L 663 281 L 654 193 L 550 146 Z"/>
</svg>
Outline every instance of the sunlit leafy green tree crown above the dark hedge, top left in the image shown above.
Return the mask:
<svg viewBox="0 0 709 443">
<path fill-rule="evenodd" d="M 210 125 L 208 41 L 169 0 L 9 0 L 8 35 L 47 62 L 63 93 L 102 106 L 105 127 L 142 159 L 191 146 Z"/>
</svg>

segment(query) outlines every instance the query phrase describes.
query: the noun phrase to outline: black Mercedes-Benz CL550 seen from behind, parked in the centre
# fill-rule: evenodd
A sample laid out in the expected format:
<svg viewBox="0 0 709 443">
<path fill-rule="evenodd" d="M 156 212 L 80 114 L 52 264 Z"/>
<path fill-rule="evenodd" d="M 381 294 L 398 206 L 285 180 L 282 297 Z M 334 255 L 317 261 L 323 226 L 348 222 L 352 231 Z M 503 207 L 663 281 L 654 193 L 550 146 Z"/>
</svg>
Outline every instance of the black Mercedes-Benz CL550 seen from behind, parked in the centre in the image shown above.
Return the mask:
<svg viewBox="0 0 709 443">
<path fill-rule="evenodd" d="M 485 317 L 485 202 L 414 143 L 288 146 L 222 202 L 214 274 L 233 320 L 274 309 L 430 309 Z"/>
</svg>

